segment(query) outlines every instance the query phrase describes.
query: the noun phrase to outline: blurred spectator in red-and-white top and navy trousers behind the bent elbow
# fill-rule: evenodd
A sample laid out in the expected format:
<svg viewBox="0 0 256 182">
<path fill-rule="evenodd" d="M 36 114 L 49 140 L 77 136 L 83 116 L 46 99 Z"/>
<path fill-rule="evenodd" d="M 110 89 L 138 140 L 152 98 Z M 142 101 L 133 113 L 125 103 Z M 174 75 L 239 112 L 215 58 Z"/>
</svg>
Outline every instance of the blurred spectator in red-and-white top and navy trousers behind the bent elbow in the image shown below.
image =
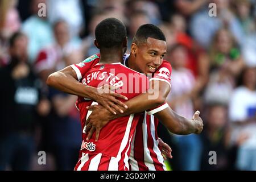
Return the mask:
<svg viewBox="0 0 256 182">
<path fill-rule="evenodd" d="M 42 49 L 35 63 L 36 72 L 44 83 L 50 73 L 82 59 L 80 47 L 70 40 L 65 20 L 55 22 L 53 28 L 55 44 Z M 53 155 L 57 170 L 72 170 L 81 144 L 79 112 L 75 107 L 77 97 L 53 88 L 47 90 L 52 111 L 44 123 L 44 147 Z"/>
</svg>

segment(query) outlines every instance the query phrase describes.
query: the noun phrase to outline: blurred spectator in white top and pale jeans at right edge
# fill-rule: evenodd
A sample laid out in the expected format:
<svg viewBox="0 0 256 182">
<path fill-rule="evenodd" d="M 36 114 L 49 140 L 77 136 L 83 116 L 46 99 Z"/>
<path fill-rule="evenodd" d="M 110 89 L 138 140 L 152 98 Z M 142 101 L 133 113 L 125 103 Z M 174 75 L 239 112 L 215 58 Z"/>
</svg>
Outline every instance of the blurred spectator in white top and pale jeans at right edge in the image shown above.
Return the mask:
<svg viewBox="0 0 256 182">
<path fill-rule="evenodd" d="M 256 68 L 246 68 L 241 77 L 242 85 L 234 89 L 229 106 L 233 125 L 232 142 L 246 135 L 238 148 L 237 168 L 256 170 Z"/>
</svg>

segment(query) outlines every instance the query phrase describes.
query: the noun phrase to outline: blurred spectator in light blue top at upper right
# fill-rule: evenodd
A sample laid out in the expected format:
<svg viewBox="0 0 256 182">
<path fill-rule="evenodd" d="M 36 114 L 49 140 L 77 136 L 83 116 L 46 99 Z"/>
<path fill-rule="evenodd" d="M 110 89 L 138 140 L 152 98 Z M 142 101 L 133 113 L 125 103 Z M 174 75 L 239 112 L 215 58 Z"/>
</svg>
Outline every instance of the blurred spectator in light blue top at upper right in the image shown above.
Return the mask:
<svg viewBox="0 0 256 182">
<path fill-rule="evenodd" d="M 193 38 L 205 49 L 209 48 L 210 42 L 221 27 L 227 27 L 238 44 L 242 44 L 244 34 L 240 22 L 230 11 L 230 0 L 214 0 L 217 5 L 217 16 L 210 17 L 208 7 L 194 14 L 191 19 L 190 31 Z"/>
</svg>

